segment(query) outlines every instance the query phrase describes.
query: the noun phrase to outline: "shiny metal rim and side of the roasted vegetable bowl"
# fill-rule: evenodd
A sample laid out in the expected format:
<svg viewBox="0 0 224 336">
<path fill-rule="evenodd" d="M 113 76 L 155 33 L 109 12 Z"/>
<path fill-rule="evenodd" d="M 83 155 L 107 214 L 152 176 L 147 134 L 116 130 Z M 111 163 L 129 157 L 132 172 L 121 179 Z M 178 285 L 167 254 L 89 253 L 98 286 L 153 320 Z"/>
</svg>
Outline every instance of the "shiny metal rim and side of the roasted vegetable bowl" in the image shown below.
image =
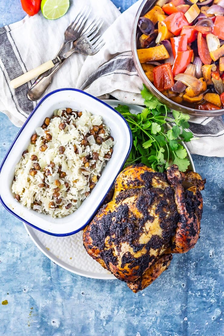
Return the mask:
<svg viewBox="0 0 224 336">
<path fill-rule="evenodd" d="M 138 59 L 137 55 L 137 28 L 138 28 L 138 19 L 140 16 L 143 16 L 151 7 L 154 6 L 155 2 L 157 0 L 144 0 L 135 17 L 134 21 L 134 29 L 132 31 L 132 37 L 131 37 L 131 48 L 132 48 L 132 54 L 134 59 L 134 64 L 137 69 L 138 75 L 141 78 L 142 82 L 146 85 L 146 87 L 164 104 L 169 106 L 173 110 L 177 110 L 183 113 L 187 113 L 194 116 L 206 116 L 206 117 L 215 117 L 215 116 L 221 116 L 224 114 L 224 109 L 221 110 L 214 110 L 214 111 L 201 111 L 201 110 L 194 110 L 191 108 L 188 108 L 186 106 L 180 105 L 175 103 L 173 100 L 170 100 L 166 96 L 164 96 L 160 91 L 158 91 L 154 85 L 148 80 L 146 77 L 141 64 Z"/>
</svg>

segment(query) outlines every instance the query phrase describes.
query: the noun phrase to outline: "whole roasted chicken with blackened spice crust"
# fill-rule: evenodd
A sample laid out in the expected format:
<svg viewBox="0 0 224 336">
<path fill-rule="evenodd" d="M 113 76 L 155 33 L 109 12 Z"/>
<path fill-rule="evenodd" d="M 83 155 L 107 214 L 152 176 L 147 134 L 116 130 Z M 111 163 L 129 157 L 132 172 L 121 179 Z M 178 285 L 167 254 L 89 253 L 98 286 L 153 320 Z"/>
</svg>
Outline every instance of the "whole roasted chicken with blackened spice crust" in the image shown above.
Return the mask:
<svg viewBox="0 0 224 336">
<path fill-rule="evenodd" d="M 200 233 L 206 180 L 173 165 L 166 173 L 142 164 L 117 177 L 114 197 L 84 229 L 88 254 L 138 292 L 185 253 Z"/>
</svg>

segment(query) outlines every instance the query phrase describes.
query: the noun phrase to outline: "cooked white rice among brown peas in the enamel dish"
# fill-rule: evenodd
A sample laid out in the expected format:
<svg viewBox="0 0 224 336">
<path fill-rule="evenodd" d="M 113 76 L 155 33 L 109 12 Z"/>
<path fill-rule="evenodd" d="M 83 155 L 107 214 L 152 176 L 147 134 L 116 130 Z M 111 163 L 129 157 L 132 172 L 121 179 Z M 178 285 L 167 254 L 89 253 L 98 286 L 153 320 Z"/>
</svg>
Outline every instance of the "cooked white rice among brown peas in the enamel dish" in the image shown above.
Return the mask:
<svg viewBox="0 0 224 336">
<path fill-rule="evenodd" d="M 71 114 L 67 114 L 65 109 L 59 109 L 54 111 L 54 116 L 57 117 L 53 117 L 45 129 L 36 128 L 36 143 L 30 143 L 27 149 L 28 153 L 23 154 L 15 166 L 12 192 L 24 206 L 44 214 L 50 214 L 55 218 L 67 216 L 79 208 L 91 191 L 90 187 L 94 187 L 97 183 L 101 170 L 113 152 L 110 149 L 113 147 L 114 141 L 113 138 L 108 138 L 110 130 L 103 124 L 99 115 L 91 115 L 89 112 L 83 111 L 82 115 L 78 117 L 74 110 Z M 61 130 L 59 124 L 62 122 L 66 124 L 66 127 Z M 99 125 L 103 126 L 105 133 L 95 134 L 95 137 L 89 135 L 93 126 Z M 46 133 L 49 133 L 52 139 L 46 143 L 47 149 L 41 152 L 40 146 L 43 145 L 43 139 L 46 139 Z M 81 144 L 84 136 L 88 138 L 86 146 Z M 102 138 L 101 144 L 96 142 L 97 136 Z M 60 146 L 64 147 L 63 154 L 59 153 Z M 93 153 L 98 153 L 98 159 L 93 159 Z M 37 160 L 32 161 L 32 155 L 36 155 Z M 106 157 L 104 157 L 105 155 Z M 88 159 L 89 167 L 84 166 L 85 157 Z M 50 162 L 54 163 L 54 167 L 49 166 Z M 30 170 L 34 168 L 35 163 L 40 165 L 40 169 L 36 169 L 36 175 L 32 176 Z M 61 172 L 65 172 L 65 177 L 60 176 Z M 57 188 L 55 180 L 60 182 L 57 198 L 53 196 L 53 194 L 55 195 L 54 189 Z M 40 184 L 44 184 L 44 187 L 38 186 Z M 56 203 L 56 200 L 57 202 L 61 200 L 60 204 Z M 50 202 L 53 202 L 55 207 L 50 208 Z M 53 206 L 52 203 L 50 204 Z"/>
</svg>

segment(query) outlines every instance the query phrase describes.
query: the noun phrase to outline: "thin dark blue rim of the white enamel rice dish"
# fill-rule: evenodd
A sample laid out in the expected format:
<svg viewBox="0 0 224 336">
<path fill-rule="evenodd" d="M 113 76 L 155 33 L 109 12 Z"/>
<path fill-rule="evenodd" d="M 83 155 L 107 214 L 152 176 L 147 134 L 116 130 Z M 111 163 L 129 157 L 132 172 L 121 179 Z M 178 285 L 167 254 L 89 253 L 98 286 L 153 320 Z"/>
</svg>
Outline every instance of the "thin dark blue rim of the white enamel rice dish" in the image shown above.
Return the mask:
<svg viewBox="0 0 224 336">
<path fill-rule="evenodd" d="M 132 147 L 132 133 L 131 133 L 131 129 L 130 129 L 130 127 L 129 127 L 127 121 L 125 120 L 125 118 L 124 118 L 118 111 L 116 111 L 113 107 L 109 106 L 109 105 L 108 105 L 107 103 L 105 103 L 104 101 L 102 101 L 102 100 L 100 100 L 100 99 L 98 99 L 98 98 L 92 96 L 91 94 L 89 94 L 89 93 L 87 93 L 87 92 L 84 92 L 84 91 L 79 90 L 79 89 L 72 89 L 72 88 L 63 88 L 63 89 L 57 89 L 57 90 L 54 90 L 54 91 L 48 93 L 46 96 L 44 96 L 44 97 L 40 100 L 40 102 L 37 104 L 37 106 L 35 107 L 35 109 L 33 110 L 33 112 L 31 112 L 30 116 L 27 118 L 27 120 L 25 121 L 24 125 L 21 127 L 21 129 L 19 130 L 19 132 L 18 132 L 18 134 L 16 135 L 15 139 L 13 140 L 13 142 L 12 142 L 12 144 L 11 144 L 11 146 L 10 146 L 8 152 L 6 153 L 4 159 L 3 159 L 2 163 L 1 163 L 1 166 L 0 166 L 0 173 L 1 173 L 2 167 L 3 167 L 4 163 L 5 163 L 5 160 L 7 159 L 9 153 L 11 152 L 12 147 L 14 146 L 14 143 L 16 142 L 17 138 L 19 137 L 19 135 L 21 134 L 21 132 L 23 131 L 23 129 L 25 128 L 25 126 L 27 125 L 27 123 L 29 122 L 29 120 L 32 118 L 32 116 L 34 115 L 34 113 L 36 112 L 36 110 L 39 108 L 39 106 L 42 104 L 42 102 L 43 102 L 45 99 L 47 99 L 49 96 L 51 96 L 52 94 L 54 94 L 54 93 L 56 93 L 56 92 L 59 92 L 59 91 L 77 91 L 77 92 L 83 93 L 83 94 L 85 94 L 85 95 L 87 95 L 87 96 L 89 96 L 89 97 L 91 97 L 91 98 L 93 98 L 93 99 L 99 101 L 101 104 L 105 105 L 105 106 L 108 107 L 110 110 L 113 110 L 116 114 L 119 115 L 119 117 L 121 117 L 121 118 L 124 120 L 124 122 L 125 122 L 125 124 L 126 124 L 126 126 L 127 126 L 127 128 L 128 128 L 128 131 L 129 131 L 130 145 L 129 145 L 128 153 L 127 153 L 127 155 L 126 155 L 126 157 L 125 157 L 125 159 L 124 159 L 124 161 L 123 161 L 123 163 L 122 163 L 122 165 L 121 165 L 121 168 L 119 169 L 119 172 L 118 172 L 118 173 L 120 173 L 120 171 L 122 170 L 122 167 L 123 167 L 124 164 L 125 164 L 125 161 L 127 160 L 128 156 L 129 156 L 129 154 L 130 154 L 130 152 L 131 152 L 131 147 Z M 116 176 L 116 177 L 117 177 L 117 176 Z M 101 201 L 100 204 L 98 205 L 98 207 L 95 209 L 95 211 L 93 212 L 93 214 L 89 217 L 88 221 L 87 221 L 82 227 L 80 227 L 78 230 L 75 230 L 75 231 L 73 231 L 73 232 L 69 232 L 69 233 L 66 233 L 66 234 L 55 234 L 55 233 L 51 233 L 51 232 L 49 232 L 49 231 L 45 231 L 45 230 L 41 229 L 40 227 L 37 227 L 37 226 L 33 225 L 32 223 L 29 223 L 26 219 L 21 218 L 19 215 L 17 215 L 16 213 L 14 213 L 11 209 L 9 209 L 9 208 L 7 207 L 7 205 L 6 205 L 6 204 L 3 202 L 3 200 L 2 200 L 1 194 L 0 194 L 0 202 L 1 202 L 1 204 L 3 205 L 3 207 L 4 207 L 8 212 L 10 212 L 12 215 L 14 215 L 16 218 L 18 218 L 18 219 L 21 220 L 22 222 L 24 222 L 24 223 L 26 223 L 26 224 L 32 226 L 33 228 L 35 228 L 35 229 L 37 229 L 37 230 L 39 230 L 39 231 L 41 231 L 41 232 L 43 232 L 43 233 L 46 233 L 46 234 L 48 234 L 48 235 L 50 235 L 50 236 L 56 236 L 56 237 L 66 237 L 66 236 L 71 236 L 71 235 L 74 235 L 74 234 L 76 234 L 77 232 L 81 231 L 81 230 L 82 230 L 86 225 L 88 225 L 88 223 L 92 220 L 92 218 L 95 216 L 95 214 L 96 214 L 96 212 L 98 211 L 98 209 L 99 209 L 99 208 L 101 207 L 101 205 L 103 204 L 103 202 L 104 202 L 106 196 L 108 195 L 108 193 L 109 193 L 111 187 L 114 185 L 114 181 L 115 181 L 116 177 L 114 178 L 113 183 L 111 183 L 110 187 L 109 187 L 108 190 L 106 191 L 106 193 L 105 193 L 105 195 L 104 195 L 102 201 Z"/>
</svg>

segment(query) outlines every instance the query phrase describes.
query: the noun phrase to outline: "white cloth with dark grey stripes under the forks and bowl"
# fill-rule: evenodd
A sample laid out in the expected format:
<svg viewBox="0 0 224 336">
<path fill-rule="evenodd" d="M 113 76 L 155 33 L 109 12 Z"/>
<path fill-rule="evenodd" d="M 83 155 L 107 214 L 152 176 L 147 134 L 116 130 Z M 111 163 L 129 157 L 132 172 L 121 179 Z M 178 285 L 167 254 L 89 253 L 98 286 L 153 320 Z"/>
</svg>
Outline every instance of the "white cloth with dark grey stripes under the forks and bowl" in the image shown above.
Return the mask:
<svg viewBox="0 0 224 336">
<path fill-rule="evenodd" d="M 112 95 L 124 103 L 143 104 L 140 95 L 142 82 L 130 51 L 134 17 L 140 2 L 121 14 L 110 0 L 86 0 L 85 4 L 92 7 L 91 18 L 104 19 L 101 33 L 105 45 L 94 56 L 70 57 L 55 74 L 46 93 L 74 87 L 104 99 Z M 46 20 L 39 13 L 0 28 L 0 111 L 16 126 L 23 125 L 38 102 L 27 98 L 31 82 L 14 90 L 10 88 L 10 80 L 54 57 L 66 27 L 82 7 L 83 0 L 76 0 L 69 12 L 58 20 Z M 221 117 L 191 117 L 190 130 L 195 135 L 195 139 L 187 143 L 191 153 L 224 156 Z"/>
</svg>

